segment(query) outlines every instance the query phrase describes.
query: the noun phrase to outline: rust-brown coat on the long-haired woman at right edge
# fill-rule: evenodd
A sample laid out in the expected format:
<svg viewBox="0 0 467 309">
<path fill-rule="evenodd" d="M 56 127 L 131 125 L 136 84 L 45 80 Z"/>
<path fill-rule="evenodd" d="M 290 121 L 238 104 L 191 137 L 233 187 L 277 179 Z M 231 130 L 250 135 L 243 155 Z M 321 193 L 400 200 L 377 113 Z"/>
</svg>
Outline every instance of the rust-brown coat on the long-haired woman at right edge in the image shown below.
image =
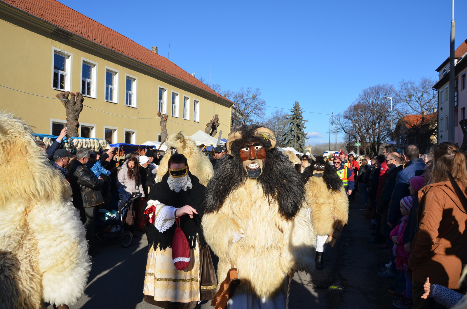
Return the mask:
<svg viewBox="0 0 467 309">
<path fill-rule="evenodd" d="M 430 277 L 432 284 L 459 288 L 467 262 L 467 214 L 449 181 L 425 186 L 418 200 L 418 230 L 409 258 L 413 281 Z"/>
</svg>

